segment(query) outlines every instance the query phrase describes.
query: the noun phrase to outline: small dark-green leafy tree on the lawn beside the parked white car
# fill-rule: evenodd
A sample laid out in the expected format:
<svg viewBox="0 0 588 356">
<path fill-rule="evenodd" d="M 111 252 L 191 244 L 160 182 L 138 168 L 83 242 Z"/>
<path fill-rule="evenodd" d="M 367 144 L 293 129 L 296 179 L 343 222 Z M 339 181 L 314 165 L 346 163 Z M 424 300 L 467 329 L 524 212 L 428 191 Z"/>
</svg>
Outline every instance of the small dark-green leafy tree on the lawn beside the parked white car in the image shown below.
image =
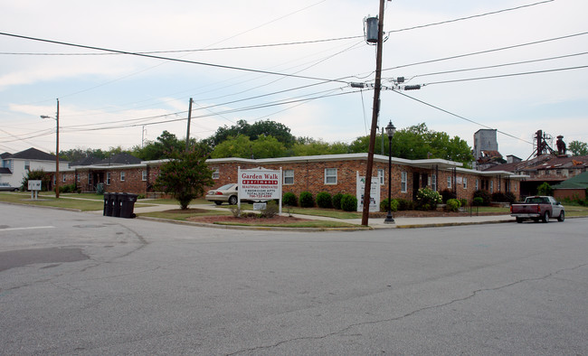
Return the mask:
<svg viewBox="0 0 588 356">
<path fill-rule="evenodd" d="M 213 185 L 213 171 L 205 164 L 206 151 L 202 145 L 171 153 L 168 162 L 161 165 L 155 187 L 171 194 L 182 210 L 194 198 L 204 194 L 204 187 Z"/>
</svg>

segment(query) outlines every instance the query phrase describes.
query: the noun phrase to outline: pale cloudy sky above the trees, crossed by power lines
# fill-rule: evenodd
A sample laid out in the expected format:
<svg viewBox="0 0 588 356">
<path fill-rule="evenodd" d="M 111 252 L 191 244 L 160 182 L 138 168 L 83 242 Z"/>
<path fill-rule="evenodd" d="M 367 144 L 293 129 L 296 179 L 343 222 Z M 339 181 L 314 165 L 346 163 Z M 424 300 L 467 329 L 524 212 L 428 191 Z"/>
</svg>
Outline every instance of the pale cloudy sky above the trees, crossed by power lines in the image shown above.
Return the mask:
<svg viewBox="0 0 588 356">
<path fill-rule="evenodd" d="M 197 139 L 242 119 L 331 143 L 369 135 L 374 91 L 351 83 L 375 81 L 364 21 L 376 0 L 0 8 L 0 152 L 54 153 L 56 122 L 41 116 L 57 99 L 60 150 L 184 138 L 190 98 Z M 497 129 L 499 152 L 522 159 L 537 130 L 554 148 L 560 135 L 588 142 L 585 14 L 585 0 L 386 1 L 378 126 L 424 122 L 472 148 L 476 131 Z M 393 89 L 398 77 L 422 89 Z"/>
</svg>

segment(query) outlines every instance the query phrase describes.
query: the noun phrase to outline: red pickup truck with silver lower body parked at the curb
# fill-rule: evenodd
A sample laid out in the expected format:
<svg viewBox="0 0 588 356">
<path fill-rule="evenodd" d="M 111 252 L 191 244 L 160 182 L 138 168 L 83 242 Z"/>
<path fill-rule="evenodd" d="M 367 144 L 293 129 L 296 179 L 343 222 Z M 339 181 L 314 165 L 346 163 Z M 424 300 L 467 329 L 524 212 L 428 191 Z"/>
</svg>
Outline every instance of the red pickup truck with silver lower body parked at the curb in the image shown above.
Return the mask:
<svg viewBox="0 0 588 356">
<path fill-rule="evenodd" d="M 510 205 L 510 216 L 517 219 L 517 222 L 530 219 L 549 222 L 549 218 L 557 217 L 558 221 L 564 221 L 564 206 L 555 201 L 554 197 L 534 196 L 527 197 L 522 204 Z"/>
</svg>

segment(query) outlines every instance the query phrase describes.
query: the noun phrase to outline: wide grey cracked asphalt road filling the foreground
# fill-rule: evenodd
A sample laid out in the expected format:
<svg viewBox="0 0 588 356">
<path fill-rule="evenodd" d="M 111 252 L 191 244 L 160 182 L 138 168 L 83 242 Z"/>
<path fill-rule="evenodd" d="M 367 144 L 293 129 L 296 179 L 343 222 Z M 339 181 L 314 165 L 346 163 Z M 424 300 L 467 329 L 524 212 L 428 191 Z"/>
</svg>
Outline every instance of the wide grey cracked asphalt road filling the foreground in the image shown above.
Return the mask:
<svg viewBox="0 0 588 356">
<path fill-rule="evenodd" d="M 588 354 L 586 231 L 219 230 L 0 203 L 0 354 Z"/>
</svg>

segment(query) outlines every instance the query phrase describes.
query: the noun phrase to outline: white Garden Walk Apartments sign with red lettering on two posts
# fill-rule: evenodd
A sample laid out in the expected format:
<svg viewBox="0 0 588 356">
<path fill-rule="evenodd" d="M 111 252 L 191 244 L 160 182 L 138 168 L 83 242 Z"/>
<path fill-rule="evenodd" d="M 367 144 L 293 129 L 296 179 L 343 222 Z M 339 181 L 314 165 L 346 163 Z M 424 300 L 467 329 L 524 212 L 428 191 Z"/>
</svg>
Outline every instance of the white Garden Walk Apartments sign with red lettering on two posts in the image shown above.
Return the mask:
<svg viewBox="0 0 588 356">
<path fill-rule="evenodd" d="M 237 195 L 239 210 L 241 200 L 246 201 L 280 201 L 281 214 L 281 168 L 280 171 L 272 171 L 265 168 L 241 169 L 238 168 Z"/>
</svg>

